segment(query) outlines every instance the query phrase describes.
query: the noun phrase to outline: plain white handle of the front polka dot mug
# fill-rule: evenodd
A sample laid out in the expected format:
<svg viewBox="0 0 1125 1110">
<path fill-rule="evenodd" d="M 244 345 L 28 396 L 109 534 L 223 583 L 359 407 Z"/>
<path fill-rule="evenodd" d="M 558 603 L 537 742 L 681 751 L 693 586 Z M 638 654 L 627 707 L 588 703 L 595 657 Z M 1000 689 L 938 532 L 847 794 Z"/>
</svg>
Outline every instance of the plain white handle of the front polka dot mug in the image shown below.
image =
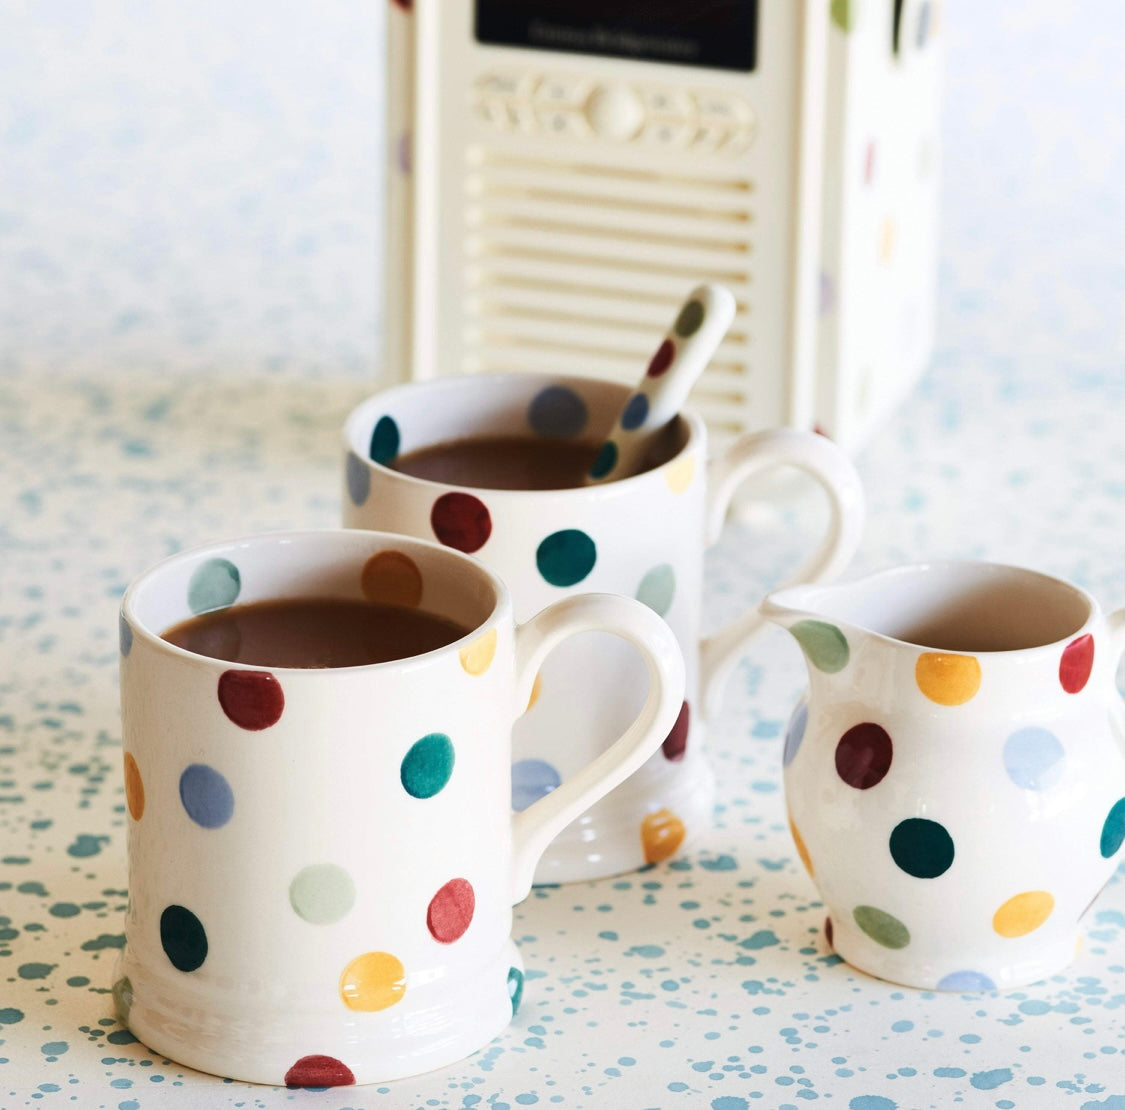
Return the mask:
<svg viewBox="0 0 1125 1110">
<path fill-rule="evenodd" d="M 632 724 L 605 751 L 512 814 L 513 905 L 531 891 L 536 865 L 551 840 L 660 747 L 683 704 L 684 659 L 668 625 L 632 598 L 579 594 L 556 602 L 515 630 L 516 705 L 528 704 L 536 675 L 556 644 L 595 631 L 612 632 L 637 648 L 648 668 L 648 697 Z"/>
</svg>

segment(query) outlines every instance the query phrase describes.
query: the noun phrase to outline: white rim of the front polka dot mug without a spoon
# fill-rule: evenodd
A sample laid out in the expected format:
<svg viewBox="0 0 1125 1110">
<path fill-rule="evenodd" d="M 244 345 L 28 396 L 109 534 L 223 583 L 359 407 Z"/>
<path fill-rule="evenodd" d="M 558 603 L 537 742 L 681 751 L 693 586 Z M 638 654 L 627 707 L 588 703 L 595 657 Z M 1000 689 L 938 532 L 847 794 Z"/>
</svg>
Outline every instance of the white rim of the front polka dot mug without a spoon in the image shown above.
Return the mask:
<svg viewBox="0 0 1125 1110">
<path fill-rule="evenodd" d="M 492 608 L 489 610 L 487 616 L 484 620 L 478 621 L 471 629 L 468 630 L 468 632 L 465 633 L 465 635 L 458 637 L 458 639 L 452 640 L 440 648 L 433 648 L 430 651 L 424 651 L 418 655 L 404 656 L 399 659 L 385 659 L 381 662 L 359 664 L 351 667 L 272 666 L 266 664 L 238 662 L 228 659 L 219 659 L 215 656 L 206 656 L 201 652 L 191 651 L 188 648 L 181 648 L 178 644 L 169 642 L 163 638 L 163 635 L 155 632 L 150 626 L 148 622 L 144 621 L 137 613 L 137 596 L 141 590 L 151 585 L 158 576 L 163 575 L 178 562 L 202 558 L 208 554 L 222 556 L 225 552 L 236 551 L 240 549 L 244 550 L 249 547 L 256 547 L 262 543 L 284 543 L 286 541 L 294 542 L 308 539 L 320 539 L 322 542 L 336 543 L 338 538 L 344 538 L 346 542 L 351 542 L 352 540 L 358 541 L 361 539 L 375 542 L 392 541 L 395 548 L 404 545 L 415 549 L 423 548 L 426 551 L 436 554 L 438 559 L 449 559 L 452 562 L 460 562 L 462 566 L 468 567 L 474 574 L 485 579 L 492 587 L 494 597 Z M 344 540 L 342 539 L 339 542 L 344 542 Z M 232 605 L 234 604 L 237 603 L 232 603 Z M 231 606 L 220 606 L 219 608 L 206 610 L 204 612 L 218 612 L 220 608 L 230 607 Z M 332 676 L 341 674 L 356 675 L 392 669 L 413 669 L 432 662 L 435 657 L 446 652 L 460 651 L 461 648 L 467 647 L 475 640 L 479 639 L 480 635 L 487 633 L 489 629 L 498 626 L 505 614 L 510 616 L 513 624 L 515 623 L 512 610 L 512 596 L 507 585 L 498 575 L 495 575 L 492 570 L 489 570 L 479 559 L 474 559 L 471 556 L 468 556 L 462 551 L 444 547 L 443 544 L 436 543 L 432 540 L 422 540 L 416 536 L 405 535 L 398 532 L 387 532 L 375 529 L 282 529 L 269 532 L 252 532 L 226 540 L 213 540 L 207 543 L 197 544 L 192 548 L 184 548 L 181 551 L 176 551 L 170 556 L 165 556 L 163 559 L 152 563 L 137 574 L 126 587 L 125 593 L 122 596 L 118 614 L 119 620 L 125 621 L 128 624 L 129 632 L 135 639 L 141 639 L 155 650 L 173 657 L 182 658 L 184 661 L 190 661 L 197 665 L 222 667 L 224 670 L 269 670 L 271 674 L 290 676 Z M 192 617 L 201 615 L 204 614 L 191 614 Z"/>
</svg>

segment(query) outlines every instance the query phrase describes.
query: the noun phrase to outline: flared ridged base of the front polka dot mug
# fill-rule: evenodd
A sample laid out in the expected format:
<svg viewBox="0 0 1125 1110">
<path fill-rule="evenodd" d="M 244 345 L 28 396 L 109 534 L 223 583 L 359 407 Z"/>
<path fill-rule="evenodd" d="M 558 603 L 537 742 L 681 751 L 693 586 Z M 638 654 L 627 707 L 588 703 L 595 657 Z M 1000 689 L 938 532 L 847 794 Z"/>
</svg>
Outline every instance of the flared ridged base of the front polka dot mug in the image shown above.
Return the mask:
<svg viewBox="0 0 1125 1110">
<path fill-rule="evenodd" d="M 407 985 L 402 1001 L 378 1012 L 343 1003 L 303 1011 L 291 998 L 255 1005 L 236 986 L 184 989 L 128 949 L 114 983 L 118 1019 L 153 1053 L 225 1079 L 290 1088 L 389 1082 L 456 1063 L 503 1032 L 522 992 L 511 940 L 471 975 Z"/>
</svg>

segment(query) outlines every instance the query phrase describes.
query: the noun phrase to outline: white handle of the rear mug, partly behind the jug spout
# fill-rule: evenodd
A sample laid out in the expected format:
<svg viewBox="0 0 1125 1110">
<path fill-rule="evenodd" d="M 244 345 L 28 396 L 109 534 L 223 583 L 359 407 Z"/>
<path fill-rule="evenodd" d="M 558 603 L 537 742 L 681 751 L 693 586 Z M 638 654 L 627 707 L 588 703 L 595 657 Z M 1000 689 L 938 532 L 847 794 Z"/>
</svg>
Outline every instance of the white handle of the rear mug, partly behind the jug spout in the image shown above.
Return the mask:
<svg viewBox="0 0 1125 1110">
<path fill-rule="evenodd" d="M 831 440 L 814 432 L 789 427 L 756 432 L 738 440 L 710 464 L 708 547 L 718 541 L 738 487 L 748 478 L 778 467 L 795 467 L 816 479 L 828 495 L 829 520 L 825 538 L 812 558 L 796 574 L 773 588 L 836 577 L 855 554 L 863 535 L 863 486 L 848 457 Z M 730 671 L 765 624 L 765 619 L 755 606 L 703 639 L 700 644 L 700 688 L 704 716 L 718 711 L 719 697 Z"/>
</svg>

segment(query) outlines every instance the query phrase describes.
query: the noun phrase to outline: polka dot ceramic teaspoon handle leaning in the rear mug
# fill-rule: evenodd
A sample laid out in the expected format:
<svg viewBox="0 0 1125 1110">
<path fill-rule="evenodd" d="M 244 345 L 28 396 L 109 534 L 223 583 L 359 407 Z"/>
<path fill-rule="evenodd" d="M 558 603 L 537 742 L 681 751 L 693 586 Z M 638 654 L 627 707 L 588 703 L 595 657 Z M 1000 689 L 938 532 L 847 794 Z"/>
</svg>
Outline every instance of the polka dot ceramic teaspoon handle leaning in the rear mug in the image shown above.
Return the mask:
<svg viewBox="0 0 1125 1110">
<path fill-rule="evenodd" d="M 654 436 L 680 413 L 734 318 L 729 289 L 703 285 L 692 290 L 598 450 L 587 485 L 628 478 L 641 469 Z"/>
</svg>

